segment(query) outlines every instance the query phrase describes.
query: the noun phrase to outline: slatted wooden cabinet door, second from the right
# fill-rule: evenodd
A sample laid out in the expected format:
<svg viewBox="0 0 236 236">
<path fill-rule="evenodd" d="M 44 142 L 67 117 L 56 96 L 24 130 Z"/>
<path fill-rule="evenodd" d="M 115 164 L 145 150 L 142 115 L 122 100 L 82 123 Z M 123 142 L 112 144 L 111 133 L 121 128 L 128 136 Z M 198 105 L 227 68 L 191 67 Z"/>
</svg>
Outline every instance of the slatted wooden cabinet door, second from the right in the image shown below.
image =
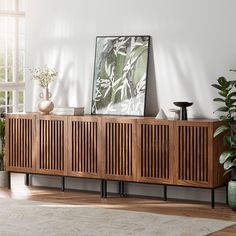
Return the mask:
<svg viewBox="0 0 236 236">
<path fill-rule="evenodd" d="M 173 183 L 173 121 L 144 118 L 137 123 L 138 181 Z"/>
</svg>

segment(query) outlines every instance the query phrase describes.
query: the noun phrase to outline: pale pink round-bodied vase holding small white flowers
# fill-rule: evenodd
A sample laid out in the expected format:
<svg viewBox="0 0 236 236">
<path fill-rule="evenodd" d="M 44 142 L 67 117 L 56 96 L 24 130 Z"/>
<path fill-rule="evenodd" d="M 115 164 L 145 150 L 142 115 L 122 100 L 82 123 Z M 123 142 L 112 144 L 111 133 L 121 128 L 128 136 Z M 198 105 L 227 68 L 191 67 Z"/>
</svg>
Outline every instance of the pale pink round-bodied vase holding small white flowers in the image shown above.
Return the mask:
<svg viewBox="0 0 236 236">
<path fill-rule="evenodd" d="M 39 103 L 38 108 L 41 114 L 48 115 L 54 108 L 54 104 L 49 100 L 51 93 L 48 90 L 48 87 L 43 88 L 43 92 L 40 93 L 40 98 L 43 100 Z"/>
</svg>

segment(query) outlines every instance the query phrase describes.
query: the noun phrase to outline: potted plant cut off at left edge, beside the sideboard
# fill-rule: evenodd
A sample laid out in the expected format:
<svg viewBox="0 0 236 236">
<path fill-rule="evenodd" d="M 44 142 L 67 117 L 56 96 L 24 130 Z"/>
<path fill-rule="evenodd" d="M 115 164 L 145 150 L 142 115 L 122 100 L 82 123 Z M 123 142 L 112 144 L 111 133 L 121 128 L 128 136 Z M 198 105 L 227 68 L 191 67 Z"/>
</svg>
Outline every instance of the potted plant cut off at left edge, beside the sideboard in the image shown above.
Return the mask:
<svg viewBox="0 0 236 236">
<path fill-rule="evenodd" d="M 8 186 L 8 172 L 5 169 L 5 119 L 0 117 L 0 187 Z"/>
</svg>

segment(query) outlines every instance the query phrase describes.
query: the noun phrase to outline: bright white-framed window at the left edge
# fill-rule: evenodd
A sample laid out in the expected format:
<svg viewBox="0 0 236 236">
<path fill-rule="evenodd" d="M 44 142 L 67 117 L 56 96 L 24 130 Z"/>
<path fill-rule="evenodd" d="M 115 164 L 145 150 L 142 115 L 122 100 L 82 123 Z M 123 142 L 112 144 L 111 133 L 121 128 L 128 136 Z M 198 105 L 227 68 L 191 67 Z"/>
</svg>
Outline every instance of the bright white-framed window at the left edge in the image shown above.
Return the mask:
<svg viewBox="0 0 236 236">
<path fill-rule="evenodd" d="M 0 113 L 24 111 L 25 0 L 0 0 Z"/>
</svg>

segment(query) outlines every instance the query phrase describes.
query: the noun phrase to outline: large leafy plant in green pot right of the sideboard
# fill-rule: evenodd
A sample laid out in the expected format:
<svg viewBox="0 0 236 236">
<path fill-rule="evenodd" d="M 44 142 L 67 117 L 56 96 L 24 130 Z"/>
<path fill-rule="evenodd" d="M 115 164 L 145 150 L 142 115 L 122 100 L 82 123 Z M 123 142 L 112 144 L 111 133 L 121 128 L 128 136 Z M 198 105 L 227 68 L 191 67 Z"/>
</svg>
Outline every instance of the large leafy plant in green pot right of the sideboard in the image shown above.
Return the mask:
<svg viewBox="0 0 236 236">
<path fill-rule="evenodd" d="M 236 70 L 231 71 L 236 72 Z M 219 161 L 224 167 L 225 174 L 231 173 L 231 180 L 228 183 L 228 203 L 233 210 L 236 210 L 236 80 L 220 77 L 212 86 L 220 95 L 213 101 L 220 103 L 216 111 L 221 113 L 222 121 L 222 125 L 215 130 L 214 137 L 222 135 L 226 145 Z"/>
</svg>

